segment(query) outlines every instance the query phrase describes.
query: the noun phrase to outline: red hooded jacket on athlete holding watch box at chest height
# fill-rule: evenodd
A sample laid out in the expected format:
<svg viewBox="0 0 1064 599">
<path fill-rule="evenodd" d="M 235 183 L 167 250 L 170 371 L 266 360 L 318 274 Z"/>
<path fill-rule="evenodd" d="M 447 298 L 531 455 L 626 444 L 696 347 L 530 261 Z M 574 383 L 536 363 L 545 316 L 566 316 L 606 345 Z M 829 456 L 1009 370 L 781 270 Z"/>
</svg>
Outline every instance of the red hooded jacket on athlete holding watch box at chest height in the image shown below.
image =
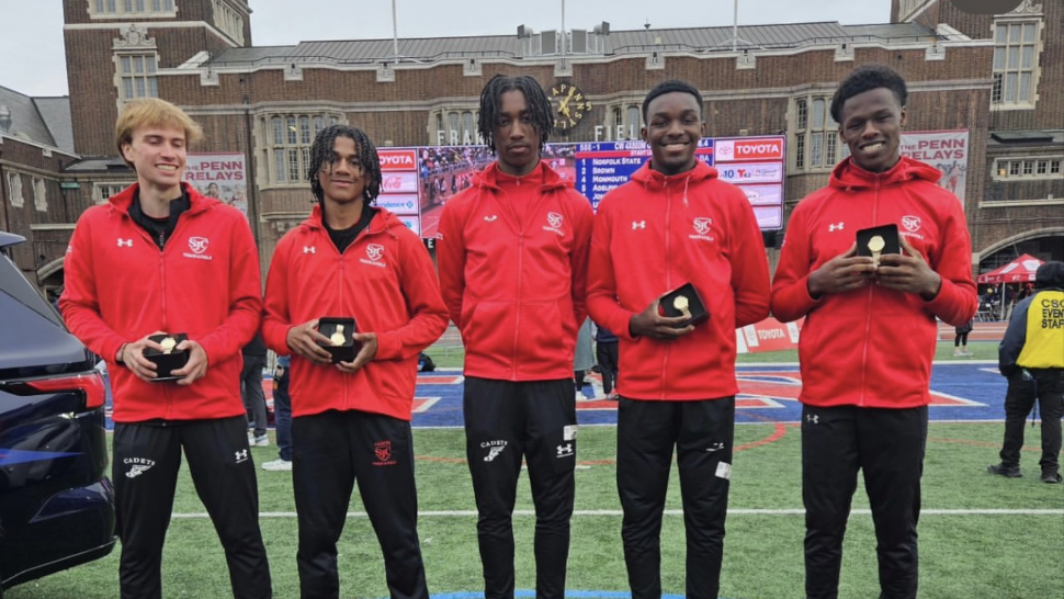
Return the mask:
<svg viewBox="0 0 1064 599">
<path fill-rule="evenodd" d="M 886 408 L 929 403 L 936 317 L 957 326 L 977 307 L 964 208 L 937 185 L 940 177 L 905 157 L 883 173 L 845 160 L 827 188 L 794 208 L 772 285 L 772 313 L 784 323 L 805 316 L 799 342 L 803 403 Z M 933 300 L 874 284 L 810 296 L 810 273 L 845 253 L 858 229 L 891 223 L 942 278 Z"/>
</svg>

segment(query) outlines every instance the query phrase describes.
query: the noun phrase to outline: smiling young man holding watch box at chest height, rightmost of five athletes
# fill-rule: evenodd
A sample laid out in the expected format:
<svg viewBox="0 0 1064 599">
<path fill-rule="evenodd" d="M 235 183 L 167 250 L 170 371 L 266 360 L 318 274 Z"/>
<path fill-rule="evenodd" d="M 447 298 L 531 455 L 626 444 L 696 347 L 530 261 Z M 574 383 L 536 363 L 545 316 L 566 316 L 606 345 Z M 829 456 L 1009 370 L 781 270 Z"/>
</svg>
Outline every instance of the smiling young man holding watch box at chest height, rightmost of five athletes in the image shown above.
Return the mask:
<svg viewBox="0 0 1064 599">
<path fill-rule="evenodd" d="M 938 319 L 975 315 L 964 207 L 941 173 L 901 155 L 907 90 L 890 67 L 864 65 L 839 84 L 831 116 L 849 158 L 791 214 L 772 284 L 772 313 L 805 317 L 802 499 L 805 595 L 838 597 L 842 538 L 857 473 L 875 523 L 882 599 L 915 599 L 916 524 Z M 901 253 L 856 233 L 895 225 Z M 876 241 L 876 237 L 879 240 Z"/>
</svg>

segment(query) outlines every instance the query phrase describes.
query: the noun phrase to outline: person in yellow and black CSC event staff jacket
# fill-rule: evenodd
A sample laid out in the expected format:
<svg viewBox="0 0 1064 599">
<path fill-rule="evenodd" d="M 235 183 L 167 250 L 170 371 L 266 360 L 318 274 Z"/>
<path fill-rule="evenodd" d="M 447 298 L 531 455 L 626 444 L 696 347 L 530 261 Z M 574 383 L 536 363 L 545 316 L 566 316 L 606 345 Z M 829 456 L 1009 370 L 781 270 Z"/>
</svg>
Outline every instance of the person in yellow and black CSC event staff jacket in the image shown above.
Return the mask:
<svg viewBox="0 0 1064 599">
<path fill-rule="evenodd" d="M 1038 399 L 1042 410 L 1043 483 L 1060 483 L 1061 415 L 1064 414 L 1064 262 L 1045 262 L 1034 273 L 1035 291 L 1016 305 L 998 347 L 998 368 L 1008 378 L 1001 462 L 991 474 L 1020 472 L 1023 420 Z"/>
</svg>

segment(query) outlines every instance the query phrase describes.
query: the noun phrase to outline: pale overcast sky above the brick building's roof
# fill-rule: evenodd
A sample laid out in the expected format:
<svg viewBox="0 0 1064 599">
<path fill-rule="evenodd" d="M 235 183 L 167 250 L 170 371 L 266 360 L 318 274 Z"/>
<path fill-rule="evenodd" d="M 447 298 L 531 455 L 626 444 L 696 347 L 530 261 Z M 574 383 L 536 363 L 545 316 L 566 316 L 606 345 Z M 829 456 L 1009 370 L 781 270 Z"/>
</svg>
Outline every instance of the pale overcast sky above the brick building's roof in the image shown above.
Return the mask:
<svg viewBox="0 0 1064 599">
<path fill-rule="evenodd" d="M 88 0 L 86 0 L 88 1 Z M 176 0 L 180 7 L 181 0 Z M 568 0 L 565 27 L 727 26 L 735 0 Z M 396 0 L 399 37 L 516 34 L 562 27 L 563 0 Z M 886 23 L 891 0 L 738 0 L 739 25 L 838 21 Z M 392 37 L 387 0 L 251 0 L 256 46 L 308 39 Z M 27 95 L 65 95 L 60 0 L 0 0 L 0 86 Z"/>
</svg>

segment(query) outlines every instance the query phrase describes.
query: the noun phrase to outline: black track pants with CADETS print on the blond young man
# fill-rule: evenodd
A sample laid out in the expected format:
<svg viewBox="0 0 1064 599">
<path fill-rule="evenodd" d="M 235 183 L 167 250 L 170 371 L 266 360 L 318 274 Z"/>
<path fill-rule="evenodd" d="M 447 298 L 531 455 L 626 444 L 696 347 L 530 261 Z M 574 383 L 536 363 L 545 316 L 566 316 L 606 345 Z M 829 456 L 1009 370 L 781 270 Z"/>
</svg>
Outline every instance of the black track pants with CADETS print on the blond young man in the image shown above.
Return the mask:
<svg viewBox="0 0 1064 599">
<path fill-rule="evenodd" d="M 196 494 L 225 549 L 233 596 L 271 597 L 246 427 L 244 416 L 166 425 L 115 423 L 112 479 L 122 540 L 122 599 L 162 597 L 162 542 L 173 511 L 182 448 Z"/>
</svg>

